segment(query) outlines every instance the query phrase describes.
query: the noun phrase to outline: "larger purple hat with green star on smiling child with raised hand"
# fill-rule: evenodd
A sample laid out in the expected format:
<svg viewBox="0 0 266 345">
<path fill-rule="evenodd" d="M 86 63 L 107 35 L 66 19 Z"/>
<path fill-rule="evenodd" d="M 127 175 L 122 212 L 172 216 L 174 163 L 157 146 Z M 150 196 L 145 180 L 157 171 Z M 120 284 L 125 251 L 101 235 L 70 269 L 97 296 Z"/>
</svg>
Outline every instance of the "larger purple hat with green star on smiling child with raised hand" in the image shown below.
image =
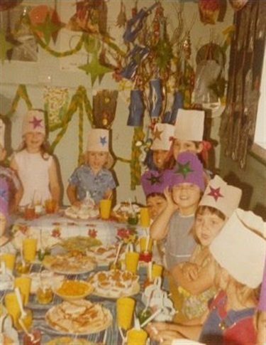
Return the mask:
<svg viewBox="0 0 266 345">
<path fill-rule="evenodd" d="M 204 169 L 198 156 L 192 152 L 181 152 L 172 171 L 171 186 L 178 184 L 196 184 L 204 191 Z"/>
</svg>

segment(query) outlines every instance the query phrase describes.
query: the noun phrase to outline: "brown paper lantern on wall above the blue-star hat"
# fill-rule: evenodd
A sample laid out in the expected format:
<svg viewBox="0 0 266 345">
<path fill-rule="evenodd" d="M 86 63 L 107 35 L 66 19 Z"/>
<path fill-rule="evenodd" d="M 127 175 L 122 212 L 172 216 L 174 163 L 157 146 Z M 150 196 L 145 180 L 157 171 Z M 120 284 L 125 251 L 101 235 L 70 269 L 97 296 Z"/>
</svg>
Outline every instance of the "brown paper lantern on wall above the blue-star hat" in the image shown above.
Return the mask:
<svg viewBox="0 0 266 345">
<path fill-rule="evenodd" d="M 101 90 L 93 97 L 92 116 L 96 128 L 111 128 L 116 115 L 117 97 L 116 90 Z"/>
</svg>

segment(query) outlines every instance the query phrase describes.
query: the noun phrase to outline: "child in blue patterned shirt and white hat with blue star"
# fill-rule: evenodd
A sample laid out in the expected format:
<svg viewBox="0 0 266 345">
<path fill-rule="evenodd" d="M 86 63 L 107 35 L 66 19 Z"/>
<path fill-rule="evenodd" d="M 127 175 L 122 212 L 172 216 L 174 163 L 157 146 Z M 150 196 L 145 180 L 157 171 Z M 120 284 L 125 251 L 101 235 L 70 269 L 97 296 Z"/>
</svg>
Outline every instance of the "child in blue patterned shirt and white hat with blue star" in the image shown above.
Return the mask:
<svg viewBox="0 0 266 345">
<path fill-rule="evenodd" d="M 101 199 L 112 198 L 116 189 L 116 182 L 108 170 L 113 159 L 109 153 L 107 129 L 91 129 L 85 161 L 85 164 L 75 169 L 70 176 L 67 196 L 72 205 L 80 206 L 89 193 L 98 206 Z"/>
</svg>

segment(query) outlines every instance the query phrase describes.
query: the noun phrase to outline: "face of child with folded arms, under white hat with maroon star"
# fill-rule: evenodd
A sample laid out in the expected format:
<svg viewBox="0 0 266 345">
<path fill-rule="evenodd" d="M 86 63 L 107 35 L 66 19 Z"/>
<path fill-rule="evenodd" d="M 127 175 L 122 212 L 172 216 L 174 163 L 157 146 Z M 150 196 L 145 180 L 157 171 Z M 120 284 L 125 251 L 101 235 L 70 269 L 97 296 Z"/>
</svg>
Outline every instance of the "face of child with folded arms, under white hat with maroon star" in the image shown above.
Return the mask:
<svg viewBox="0 0 266 345">
<path fill-rule="evenodd" d="M 210 211 L 196 215 L 196 237 L 199 239 L 201 245 L 204 245 L 204 247 L 209 246 L 220 232 L 224 222 L 222 218 Z"/>
</svg>

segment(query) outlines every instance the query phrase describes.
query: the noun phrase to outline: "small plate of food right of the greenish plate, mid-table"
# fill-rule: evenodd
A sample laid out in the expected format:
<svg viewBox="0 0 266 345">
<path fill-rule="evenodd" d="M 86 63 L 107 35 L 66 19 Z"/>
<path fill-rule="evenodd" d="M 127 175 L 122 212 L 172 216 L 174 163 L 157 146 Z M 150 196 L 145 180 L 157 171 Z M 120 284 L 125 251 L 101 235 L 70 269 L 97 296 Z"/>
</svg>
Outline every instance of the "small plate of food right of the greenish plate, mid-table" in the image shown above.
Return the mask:
<svg viewBox="0 0 266 345">
<path fill-rule="evenodd" d="M 116 258 L 118 245 L 96 245 L 86 250 L 87 256 L 94 258 L 98 265 L 109 265 Z M 124 250 L 121 248 L 120 255 Z"/>
</svg>

